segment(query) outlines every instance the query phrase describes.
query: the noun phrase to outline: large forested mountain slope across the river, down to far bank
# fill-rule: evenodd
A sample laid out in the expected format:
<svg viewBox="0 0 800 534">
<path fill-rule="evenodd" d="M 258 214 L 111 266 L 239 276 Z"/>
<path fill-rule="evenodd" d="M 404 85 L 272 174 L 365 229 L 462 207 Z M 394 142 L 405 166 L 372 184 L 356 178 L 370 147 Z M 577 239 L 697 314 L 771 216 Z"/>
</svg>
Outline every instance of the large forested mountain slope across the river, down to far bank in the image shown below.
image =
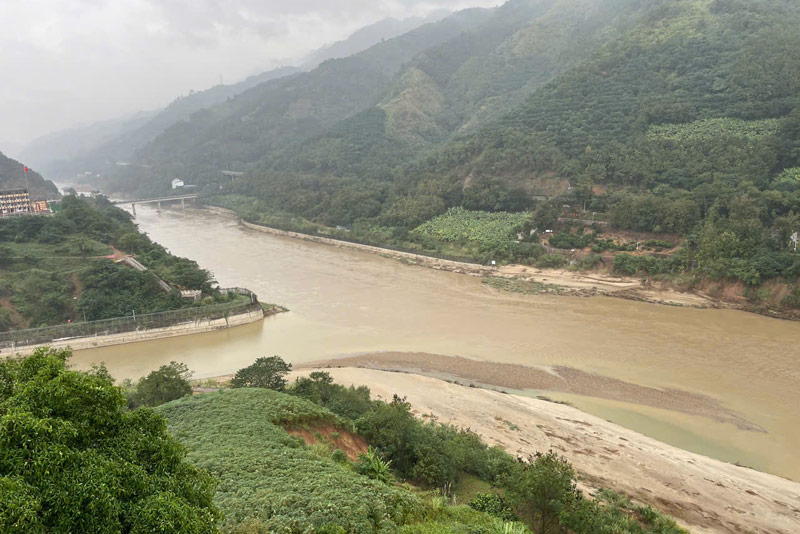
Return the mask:
<svg viewBox="0 0 800 534">
<path fill-rule="evenodd" d="M 591 213 L 681 244 L 668 260 L 620 267 L 628 274 L 795 280 L 798 23 L 788 0 L 469 9 L 201 110 L 103 187 L 160 194 L 179 177 L 228 195 L 229 207 L 248 199 L 262 222 L 280 215 L 296 218 L 283 226 L 344 226 L 403 246 L 449 209 L 529 214 L 540 231 L 562 212 Z M 630 246 L 566 230 L 579 235 L 545 244 Z M 481 258 L 542 250 L 489 248 Z"/>
</svg>

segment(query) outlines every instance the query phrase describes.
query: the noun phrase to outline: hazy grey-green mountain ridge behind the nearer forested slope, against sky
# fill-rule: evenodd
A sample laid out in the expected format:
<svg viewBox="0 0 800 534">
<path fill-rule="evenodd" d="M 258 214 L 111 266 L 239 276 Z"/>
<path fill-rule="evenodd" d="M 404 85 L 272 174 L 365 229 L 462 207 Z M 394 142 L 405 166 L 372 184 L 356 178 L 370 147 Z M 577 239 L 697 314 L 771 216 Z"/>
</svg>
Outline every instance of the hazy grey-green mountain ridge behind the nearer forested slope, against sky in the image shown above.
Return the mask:
<svg viewBox="0 0 800 534">
<path fill-rule="evenodd" d="M 198 112 L 144 147 L 134 160 L 136 165 L 123 169 L 111 188 L 155 193 L 168 187 L 164 176 L 208 183 L 218 179 L 221 169 L 249 168 L 265 155 L 374 106 L 406 62 L 490 16 L 490 10 L 461 11 Z"/>
</svg>

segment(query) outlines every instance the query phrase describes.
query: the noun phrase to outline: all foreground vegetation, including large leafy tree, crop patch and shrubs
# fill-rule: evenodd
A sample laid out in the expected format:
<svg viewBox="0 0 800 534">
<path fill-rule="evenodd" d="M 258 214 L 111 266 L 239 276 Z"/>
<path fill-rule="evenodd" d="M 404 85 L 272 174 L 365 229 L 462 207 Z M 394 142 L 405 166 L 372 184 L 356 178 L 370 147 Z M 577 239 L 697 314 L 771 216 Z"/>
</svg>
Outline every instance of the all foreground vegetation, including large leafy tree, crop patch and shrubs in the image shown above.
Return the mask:
<svg viewBox="0 0 800 534">
<path fill-rule="evenodd" d="M 685 534 L 613 492 L 585 498 L 552 452 L 515 460 L 326 373 L 285 392 L 193 396 L 190 372 L 172 362 L 132 397 L 102 365 L 69 369 L 70 356 L 41 348 L 0 361 L 2 532 Z M 270 362 L 280 358 L 237 376 L 284 389 L 291 366 Z M 371 447 L 353 461 L 337 447 L 363 443 L 355 432 Z M 473 491 L 454 489 L 464 477 Z M 470 491 L 469 503 L 454 491 Z"/>
</svg>

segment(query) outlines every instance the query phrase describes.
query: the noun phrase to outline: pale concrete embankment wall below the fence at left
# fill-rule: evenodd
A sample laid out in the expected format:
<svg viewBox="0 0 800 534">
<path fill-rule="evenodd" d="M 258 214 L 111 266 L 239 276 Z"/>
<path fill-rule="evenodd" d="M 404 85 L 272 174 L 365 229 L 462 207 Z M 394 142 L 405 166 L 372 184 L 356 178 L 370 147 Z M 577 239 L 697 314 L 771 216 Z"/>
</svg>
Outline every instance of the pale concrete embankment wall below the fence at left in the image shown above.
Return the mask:
<svg viewBox="0 0 800 534">
<path fill-rule="evenodd" d="M 221 319 L 196 319 L 185 323 L 176 324 L 164 328 L 153 328 L 148 330 L 137 330 L 123 332 L 119 334 L 109 334 L 100 336 L 87 336 L 62 341 L 53 341 L 43 345 L 29 345 L 18 349 L 0 349 L 0 356 L 10 356 L 13 354 L 31 354 L 39 347 L 48 346 L 53 348 L 71 347 L 73 350 L 93 349 L 97 347 L 107 347 L 109 345 L 122 345 L 124 343 L 136 343 L 152 339 L 162 339 L 167 337 L 185 336 L 189 334 L 201 334 L 214 330 L 224 330 L 234 326 L 242 326 L 255 323 L 264 319 L 264 312 L 260 309 L 231 315 Z"/>
</svg>

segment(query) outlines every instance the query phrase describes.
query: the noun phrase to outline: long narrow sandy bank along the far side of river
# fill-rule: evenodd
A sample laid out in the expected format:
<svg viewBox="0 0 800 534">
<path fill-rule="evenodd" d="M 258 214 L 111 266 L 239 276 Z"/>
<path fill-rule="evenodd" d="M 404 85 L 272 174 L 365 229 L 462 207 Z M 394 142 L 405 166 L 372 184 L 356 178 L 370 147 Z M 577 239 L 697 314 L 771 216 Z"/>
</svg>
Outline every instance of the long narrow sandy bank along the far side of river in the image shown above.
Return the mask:
<svg viewBox="0 0 800 534">
<path fill-rule="evenodd" d="M 722 282 L 719 284 L 706 284 L 705 286 L 708 286 L 707 289 L 709 289 L 709 292 L 702 291 L 699 288 L 694 288 L 693 291 L 689 291 L 676 288 L 668 281 L 616 276 L 599 271 L 582 272 L 569 269 L 543 269 L 518 264 L 501 265 L 497 267 L 484 266 L 476 263 L 446 260 L 426 256 L 424 254 L 403 252 L 373 245 L 353 243 L 341 239 L 280 230 L 269 226 L 253 224 L 243 220 L 235 211 L 218 206 L 203 206 L 199 209 L 212 213 L 232 215 L 239 220 L 241 225 L 257 232 L 322 243 L 340 248 L 355 249 L 394 258 L 406 264 L 483 277 L 490 282 L 488 285 L 501 291 L 510 291 L 514 293 L 547 293 L 571 297 L 607 296 L 651 304 L 687 308 L 735 309 L 779 319 L 800 320 L 800 316 L 791 310 L 765 309 L 754 306 L 740 294 L 741 291 L 731 291 L 729 288 L 723 287 L 725 284 Z M 492 284 L 492 279 L 518 281 L 532 285 L 520 287 L 513 283 Z M 711 292 L 719 296 L 712 296 L 710 294 Z"/>
</svg>

